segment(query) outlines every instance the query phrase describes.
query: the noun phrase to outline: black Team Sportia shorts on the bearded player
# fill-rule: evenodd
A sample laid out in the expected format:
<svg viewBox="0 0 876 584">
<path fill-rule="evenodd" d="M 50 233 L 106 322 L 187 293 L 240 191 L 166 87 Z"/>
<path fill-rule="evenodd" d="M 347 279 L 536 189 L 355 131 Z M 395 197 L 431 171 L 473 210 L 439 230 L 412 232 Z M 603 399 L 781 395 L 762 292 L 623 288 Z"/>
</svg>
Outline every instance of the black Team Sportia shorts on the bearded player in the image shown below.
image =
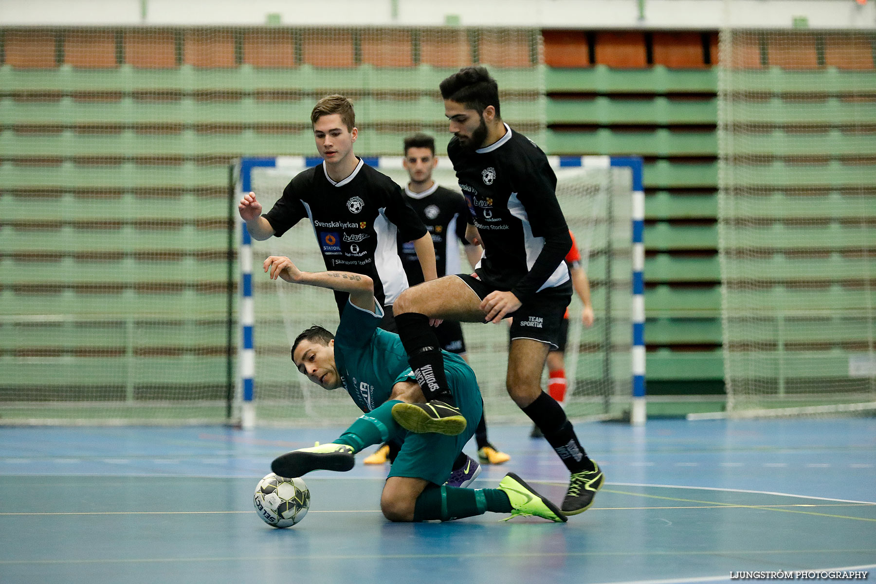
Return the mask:
<svg viewBox="0 0 876 584">
<path fill-rule="evenodd" d="M 468 285 L 479 299 L 484 299 L 497 290 L 471 274 L 456 274 Z M 551 348 L 558 348 L 562 317 L 566 306 L 572 299 L 572 282 L 568 280 L 553 288 L 545 288 L 535 292 L 532 299 L 527 300 L 516 312 L 512 313 L 511 340 L 533 339 L 547 343 Z"/>
</svg>

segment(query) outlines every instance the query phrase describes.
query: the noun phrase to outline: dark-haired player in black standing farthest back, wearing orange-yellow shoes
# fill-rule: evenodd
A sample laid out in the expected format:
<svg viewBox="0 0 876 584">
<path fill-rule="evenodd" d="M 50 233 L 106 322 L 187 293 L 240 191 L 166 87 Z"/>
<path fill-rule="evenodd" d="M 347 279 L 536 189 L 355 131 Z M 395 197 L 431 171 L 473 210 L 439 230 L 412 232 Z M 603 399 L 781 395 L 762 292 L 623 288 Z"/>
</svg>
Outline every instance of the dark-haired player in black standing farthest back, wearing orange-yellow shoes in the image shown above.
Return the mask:
<svg viewBox="0 0 876 584">
<path fill-rule="evenodd" d="M 404 145 L 404 165 L 410 178 L 405 187 L 405 198 L 432 235 L 438 276 L 463 271 L 459 261 L 459 242 L 463 243 L 466 257 L 474 267 L 480 260 L 481 248 L 465 241 L 465 228 L 468 224 L 466 217 L 469 215 L 465 199 L 460 193 L 439 186 L 432 179 L 432 171 L 438 164 L 438 158 L 435 157 L 434 137 L 415 134 L 406 137 Z M 422 283 L 423 272 L 420 270 L 420 262 L 413 249 L 413 243 L 406 242 L 402 237 L 399 237 L 399 257 L 405 268 L 408 283 L 412 286 Z M 444 320 L 435 327 L 435 335 L 443 350 L 460 355 L 466 362 L 469 361 L 465 355 L 463 328 L 460 327 L 459 322 Z M 475 440 L 477 440 L 477 458 L 482 464 L 502 464 L 511 460 L 511 456 L 498 450 L 487 438 L 485 415 L 481 416 L 477 425 Z M 383 444 L 377 452 L 367 457 L 364 463 L 383 464 L 387 460 L 392 461 L 398 448 L 399 445 Z"/>
</svg>

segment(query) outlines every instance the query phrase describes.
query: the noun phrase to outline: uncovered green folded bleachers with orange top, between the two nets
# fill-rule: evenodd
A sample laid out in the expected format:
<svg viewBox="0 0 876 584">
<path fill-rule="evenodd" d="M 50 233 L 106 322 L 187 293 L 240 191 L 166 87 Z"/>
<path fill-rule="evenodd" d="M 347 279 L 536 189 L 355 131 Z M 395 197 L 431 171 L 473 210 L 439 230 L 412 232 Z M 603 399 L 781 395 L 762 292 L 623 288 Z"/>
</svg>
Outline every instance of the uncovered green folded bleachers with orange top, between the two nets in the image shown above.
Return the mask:
<svg viewBox="0 0 876 584">
<path fill-rule="evenodd" d="M 649 415 L 723 407 L 717 32 L 545 31 L 548 151 L 645 159 Z M 709 396 L 712 398 L 693 398 Z"/>
</svg>

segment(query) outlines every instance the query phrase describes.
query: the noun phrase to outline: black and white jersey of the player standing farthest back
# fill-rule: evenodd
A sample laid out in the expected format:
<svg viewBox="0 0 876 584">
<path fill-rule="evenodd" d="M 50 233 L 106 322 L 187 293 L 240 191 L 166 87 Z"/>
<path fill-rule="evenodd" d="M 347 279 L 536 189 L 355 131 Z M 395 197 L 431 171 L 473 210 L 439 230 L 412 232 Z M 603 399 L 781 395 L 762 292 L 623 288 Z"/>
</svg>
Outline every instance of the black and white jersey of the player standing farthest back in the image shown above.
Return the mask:
<svg viewBox="0 0 876 584">
<path fill-rule="evenodd" d="M 434 183 L 421 193 L 413 193 L 405 187 L 405 199 L 432 234 L 438 278 L 458 273 L 462 264 L 457 241 L 465 243 L 465 226 L 469 215 L 463 195 Z M 399 236 L 399 257 L 405 267 L 408 283 L 412 286 L 420 284 L 424 279 L 420 260 L 413 249 L 413 242 L 405 241 L 402 236 Z"/>
</svg>

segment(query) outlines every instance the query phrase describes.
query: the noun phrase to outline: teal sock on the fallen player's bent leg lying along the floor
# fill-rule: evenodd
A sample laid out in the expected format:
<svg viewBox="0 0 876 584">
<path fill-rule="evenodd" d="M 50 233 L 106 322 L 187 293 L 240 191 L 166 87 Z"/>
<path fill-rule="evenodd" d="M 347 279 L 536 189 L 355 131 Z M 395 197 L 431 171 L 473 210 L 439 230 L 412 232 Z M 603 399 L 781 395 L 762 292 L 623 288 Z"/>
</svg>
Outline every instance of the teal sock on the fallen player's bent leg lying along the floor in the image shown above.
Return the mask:
<svg viewBox="0 0 876 584">
<path fill-rule="evenodd" d="M 457 489 L 429 484 L 413 508 L 414 521 L 461 519 L 484 515 L 487 511 L 508 513 L 511 502 L 499 489 Z"/>
</svg>

